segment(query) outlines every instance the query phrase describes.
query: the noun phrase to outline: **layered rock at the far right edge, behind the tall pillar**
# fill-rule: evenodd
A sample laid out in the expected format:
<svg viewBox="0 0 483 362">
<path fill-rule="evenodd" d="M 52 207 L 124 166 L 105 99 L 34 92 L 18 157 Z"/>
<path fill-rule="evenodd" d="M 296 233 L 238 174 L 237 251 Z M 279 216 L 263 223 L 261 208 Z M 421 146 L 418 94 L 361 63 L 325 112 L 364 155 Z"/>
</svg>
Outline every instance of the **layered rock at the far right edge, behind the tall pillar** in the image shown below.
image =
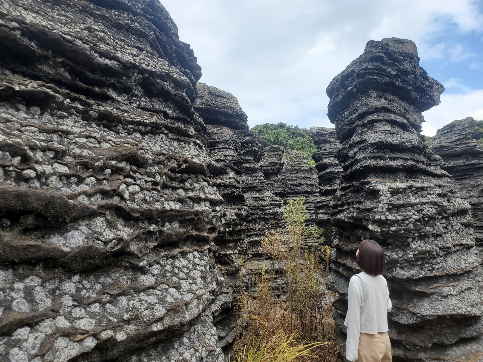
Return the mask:
<svg viewBox="0 0 483 362">
<path fill-rule="evenodd" d="M 483 145 L 473 139 L 476 121 L 454 121 L 438 129 L 431 150 L 443 158 L 441 167 L 451 175 L 455 191 L 471 205 L 473 235 L 483 256 Z"/>
</svg>

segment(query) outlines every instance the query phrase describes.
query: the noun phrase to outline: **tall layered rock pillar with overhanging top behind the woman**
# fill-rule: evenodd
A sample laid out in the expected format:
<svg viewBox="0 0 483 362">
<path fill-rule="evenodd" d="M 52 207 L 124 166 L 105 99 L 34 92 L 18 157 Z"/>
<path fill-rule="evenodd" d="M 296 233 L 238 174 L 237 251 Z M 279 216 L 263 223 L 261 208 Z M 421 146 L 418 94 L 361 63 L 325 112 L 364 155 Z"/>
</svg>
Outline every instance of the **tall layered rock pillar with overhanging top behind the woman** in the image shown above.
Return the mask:
<svg viewBox="0 0 483 362">
<path fill-rule="evenodd" d="M 443 87 L 404 39 L 370 41 L 327 88 L 343 167 L 332 202 L 333 316 L 343 331 L 361 239 L 385 248 L 395 361 L 478 361 L 483 355 L 483 273 L 468 202 L 419 132 Z"/>
</svg>

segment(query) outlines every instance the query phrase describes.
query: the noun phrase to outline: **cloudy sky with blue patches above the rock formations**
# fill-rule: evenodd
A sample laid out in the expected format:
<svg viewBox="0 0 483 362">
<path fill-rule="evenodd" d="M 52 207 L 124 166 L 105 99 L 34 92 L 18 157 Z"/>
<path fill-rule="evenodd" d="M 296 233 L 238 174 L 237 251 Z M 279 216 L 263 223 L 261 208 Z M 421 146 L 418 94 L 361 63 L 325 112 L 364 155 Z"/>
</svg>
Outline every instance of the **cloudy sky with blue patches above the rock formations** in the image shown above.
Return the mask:
<svg viewBox="0 0 483 362">
<path fill-rule="evenodd" d="M 369 40 L 416 42 L 444 84 L 423 134 L 483 119 L 482 0 L 161 0 L 198 56 L 200 82 L 238 98 L 251 127 L 332 127 L 326 87 Z"/>
</svg>

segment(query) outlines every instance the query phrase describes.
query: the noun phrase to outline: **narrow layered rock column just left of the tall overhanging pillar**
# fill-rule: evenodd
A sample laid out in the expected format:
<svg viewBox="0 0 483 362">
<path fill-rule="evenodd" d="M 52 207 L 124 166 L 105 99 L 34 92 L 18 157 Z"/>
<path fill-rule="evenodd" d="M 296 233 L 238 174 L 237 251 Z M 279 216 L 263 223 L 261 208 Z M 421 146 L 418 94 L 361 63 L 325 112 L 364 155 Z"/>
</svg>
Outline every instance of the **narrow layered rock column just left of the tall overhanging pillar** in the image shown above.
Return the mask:
<svg viewBox="0 0 483 362">
<path fill-rule="evenodd" d="M 332 196 L 339 188 L 343 171 L 336 156 L 340 144 L 335 128 L 315 128 L 311 137 L 318 149 L 312 155 L 313 160 L 317 163 L 315 168 L 319 179 L 319 197 L 315 202 L 316 223 L 326 230 L 326 238 L 330 238 L 330 203 Z"/>
</svg>

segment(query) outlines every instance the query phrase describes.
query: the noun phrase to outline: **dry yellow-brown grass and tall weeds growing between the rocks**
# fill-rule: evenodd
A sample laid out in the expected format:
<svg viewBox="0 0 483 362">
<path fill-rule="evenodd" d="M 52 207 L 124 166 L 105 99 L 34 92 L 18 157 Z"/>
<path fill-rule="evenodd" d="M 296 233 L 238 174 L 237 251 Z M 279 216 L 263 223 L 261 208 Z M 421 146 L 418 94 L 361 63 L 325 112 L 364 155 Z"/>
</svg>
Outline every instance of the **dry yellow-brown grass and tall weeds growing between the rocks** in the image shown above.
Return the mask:
<svg viewBox="0 0 483 362">
<path fill-rule="evenodd" d="M 259 274 L 250 275 L 249 290 L 240 283 L 235 362 L 337 361 L 338 346 L 332 342 L 335 323 L 323 283 L 330 249 L 322 244 L 323 230 L 306 226 L 303 201 L 303 197 L 289 200 L 286 230 L 270 231 L 261 242 L 271 268 L 264 264 Z M 315 241 L 309 243 L 310 249 L 303 247 L 307 240 Z M 241 259 L 241 268 L 245 261 Z M 285 277 L 283 291 L 275 291 L 277 271 Z"/>
</svg>

